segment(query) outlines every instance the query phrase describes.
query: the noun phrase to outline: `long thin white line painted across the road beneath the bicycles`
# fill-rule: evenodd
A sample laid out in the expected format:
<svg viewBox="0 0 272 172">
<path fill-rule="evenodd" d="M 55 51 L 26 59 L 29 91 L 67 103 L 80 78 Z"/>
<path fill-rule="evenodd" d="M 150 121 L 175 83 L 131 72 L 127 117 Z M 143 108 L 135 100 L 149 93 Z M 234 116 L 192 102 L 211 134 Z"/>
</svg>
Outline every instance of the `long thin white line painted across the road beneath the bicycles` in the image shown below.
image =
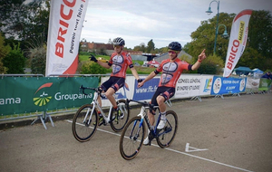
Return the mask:
<svg viewBox="0 0 272 172">
<path fill-rule="evenodd" d="M 68 122 L 71 122 L 71 123 L 73 122 L 72 120 L 69 120 L 69 119 L 66 119 L 66 120 Z M 107 130 L 103 130 L 103 129 L 98 129 L 98 130 L 100 130 L 102 132 L 106 132 L 106 133 L 112 134 L 112 135 L 115 135 L 115 136 L 121 136 L 120 134 L 117 134 L 117 133 L 114 133 L 114 132 L 110 132 L 110 131 L 107 131 Z M 155 145 L 155 144 L 151 144 L 151 146 L 160 148 L 158 145 Z M 212 162 L 212 163 L 215 163 L 215 164 L 219 164 L 221 166 L 231 167 L 231 168 L 239 169 L 241 171 L 254 172 L 254 171 L 250 171 L 248 169 L 244 169 L 244 168 L 241 168 L 241 167 L 235 167 L 235 166 L 231 166 L 231 165 L 228 165 L 228 164 L 221 163 L 219 161 L 211 160 L 209 158 L 201 158 L 201 157 L 198 157 L 198 156 L 194 156 L 194 155 L 191 155 L 189 153 L 181 152 L 179 150 L 175 150 L 175 149 L 172 149 L 172 148 L 164 148 L 164 149 L 167 149 L 167 150 L 170 150 L 172 152 L 176 152 L 176 153 L 179 153 L 179 154 L 182 154 L 182 155 L 186 155 L 186 156 L 189 156 L 189 157 L 199 158 L 199 159 L 202 159 L 202 160 L 205 160 L 205 161 L 209 161 L 209 162 Z"/>
</svg>

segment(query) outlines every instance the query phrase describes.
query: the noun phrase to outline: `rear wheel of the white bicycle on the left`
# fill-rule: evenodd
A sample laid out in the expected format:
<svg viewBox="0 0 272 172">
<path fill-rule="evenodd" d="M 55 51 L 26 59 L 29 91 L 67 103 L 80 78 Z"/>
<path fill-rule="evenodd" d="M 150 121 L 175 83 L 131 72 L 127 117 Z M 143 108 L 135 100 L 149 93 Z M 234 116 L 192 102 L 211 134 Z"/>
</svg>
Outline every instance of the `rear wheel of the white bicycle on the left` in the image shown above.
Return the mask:
<svg viewBox="0 0 272 172">
<path fill-rule="evenodd" d="M 120 111 L 117 116 L 111 115 L 111 127 L 115 132 L 120 132 L 130 118 L 130 108 L 126 104 L 126 100 L 118 100 L 116 103 Z"/>
</svg>

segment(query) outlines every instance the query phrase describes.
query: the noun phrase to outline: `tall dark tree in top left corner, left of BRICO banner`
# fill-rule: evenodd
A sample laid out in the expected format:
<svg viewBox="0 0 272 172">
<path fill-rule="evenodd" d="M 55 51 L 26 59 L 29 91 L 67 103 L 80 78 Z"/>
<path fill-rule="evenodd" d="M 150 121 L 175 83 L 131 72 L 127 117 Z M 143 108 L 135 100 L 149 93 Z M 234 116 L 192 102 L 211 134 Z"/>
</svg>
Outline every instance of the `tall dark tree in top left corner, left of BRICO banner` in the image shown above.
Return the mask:
<svg viewBox="0 0 272 172">
<path fill-rule="evenodd" d="M 0 3 L 1 31 L 19 40 L 37 38 L 44 33 L 47 39 L 49 23 L 49 0 L 7 0 Z"/>
</svg>

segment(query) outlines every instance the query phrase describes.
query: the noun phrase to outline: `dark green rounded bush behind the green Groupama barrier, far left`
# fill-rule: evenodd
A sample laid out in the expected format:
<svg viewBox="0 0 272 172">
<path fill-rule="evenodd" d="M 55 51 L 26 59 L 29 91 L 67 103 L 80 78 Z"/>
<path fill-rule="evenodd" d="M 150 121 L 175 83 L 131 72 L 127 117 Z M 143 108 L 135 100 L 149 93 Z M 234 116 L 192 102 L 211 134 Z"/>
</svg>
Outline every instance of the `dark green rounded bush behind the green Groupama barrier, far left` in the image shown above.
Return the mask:
<svg viewBox="0 0 272 172">
<path fill-rule="evenodd" d="M 25 58 L 20 49 L 20 44 L 14 45 L 14 49 L 3 60 L 3 64 L 7 68 L 7 73 L 10 74 L 24 74 L 24 62 Z"/>
</svg>

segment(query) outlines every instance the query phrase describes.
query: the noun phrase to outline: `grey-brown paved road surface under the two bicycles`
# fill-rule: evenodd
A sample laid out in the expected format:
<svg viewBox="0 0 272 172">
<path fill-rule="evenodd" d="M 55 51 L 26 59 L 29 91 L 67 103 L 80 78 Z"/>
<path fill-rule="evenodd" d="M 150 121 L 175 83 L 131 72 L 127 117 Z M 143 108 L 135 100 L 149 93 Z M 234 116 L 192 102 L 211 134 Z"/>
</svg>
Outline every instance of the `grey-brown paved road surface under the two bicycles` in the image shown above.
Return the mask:
<svg viewBox="0 0 272 172">
<path fill-rule="evenodd" d="M 88 142 L 73 138 L 69 119 L 0 131 L 0 171 L 272 171 L 272 94 L 173 103 L 179 115 L 170 148 L 141 148 L 124 160 L 120 133 L 103 126 Z M 136 115 L 138 110 L 132 110 Z"/>
</svg>

